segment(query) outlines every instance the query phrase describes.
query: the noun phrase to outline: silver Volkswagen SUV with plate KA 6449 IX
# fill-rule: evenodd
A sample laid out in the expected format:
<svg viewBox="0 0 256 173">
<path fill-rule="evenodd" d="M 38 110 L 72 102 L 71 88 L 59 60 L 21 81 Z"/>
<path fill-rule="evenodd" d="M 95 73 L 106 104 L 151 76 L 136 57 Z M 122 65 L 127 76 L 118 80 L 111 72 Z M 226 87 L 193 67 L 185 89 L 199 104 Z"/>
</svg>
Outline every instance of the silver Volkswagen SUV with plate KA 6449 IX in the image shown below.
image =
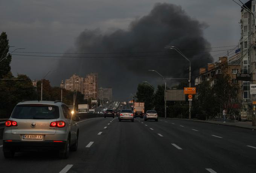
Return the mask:
<svg viewBox="0 0 256 173">
<path fill-rule="evenodd" d="M 3 153 L 11 158 L 15 152 L 57 150 L 68 158 L 77 150 L 79 129 L 66 104 L 61 101 L 23 101 L 12 111 L 3 131 Z"/>
</svg>

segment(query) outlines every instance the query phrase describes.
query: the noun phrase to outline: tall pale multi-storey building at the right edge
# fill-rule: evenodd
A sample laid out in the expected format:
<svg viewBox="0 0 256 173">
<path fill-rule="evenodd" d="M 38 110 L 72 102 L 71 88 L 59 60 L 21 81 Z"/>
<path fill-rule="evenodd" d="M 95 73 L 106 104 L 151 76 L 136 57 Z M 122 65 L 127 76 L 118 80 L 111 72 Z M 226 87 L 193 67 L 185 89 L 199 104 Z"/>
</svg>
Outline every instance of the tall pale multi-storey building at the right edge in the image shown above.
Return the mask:
<svg viewBox="0 0 256 173">
<path fill-rule="evenodd" d="M 250 0 L 245 3 L 245 6 L 256 15 L 256 0 Z M 252 101 L 256 101 L 256 95 L 251 95 L 250 84 L 256 84 L 255 78 L 255 38 L 253 38 L 253 15 L 251 15 L 247 10 L 241 8 L 241 74 L 251 74 L 250 81 L 242 81 L 242 105 L 243 111 L 241 116 L 246 116 L 248 119 L 252 117 Z M 254 41 L 253 41 L 254 40 Z"/>
</svg>

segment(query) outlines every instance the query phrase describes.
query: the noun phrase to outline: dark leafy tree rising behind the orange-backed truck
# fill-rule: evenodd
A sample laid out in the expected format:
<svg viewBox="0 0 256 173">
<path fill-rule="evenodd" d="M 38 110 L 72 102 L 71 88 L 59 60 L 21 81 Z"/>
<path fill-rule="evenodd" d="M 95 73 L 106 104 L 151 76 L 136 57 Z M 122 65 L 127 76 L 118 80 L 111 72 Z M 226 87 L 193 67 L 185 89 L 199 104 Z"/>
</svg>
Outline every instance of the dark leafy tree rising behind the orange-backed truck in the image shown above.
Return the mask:
<svg viewBox="0 0 256 173">
<path fill-rule="evenodd" d="M 152 110 L 154 108 L 154 89 L 146 83 L 138 84 L 137 87 L 137 101 L 145 103 L 145 111 Z"/>
</svg>

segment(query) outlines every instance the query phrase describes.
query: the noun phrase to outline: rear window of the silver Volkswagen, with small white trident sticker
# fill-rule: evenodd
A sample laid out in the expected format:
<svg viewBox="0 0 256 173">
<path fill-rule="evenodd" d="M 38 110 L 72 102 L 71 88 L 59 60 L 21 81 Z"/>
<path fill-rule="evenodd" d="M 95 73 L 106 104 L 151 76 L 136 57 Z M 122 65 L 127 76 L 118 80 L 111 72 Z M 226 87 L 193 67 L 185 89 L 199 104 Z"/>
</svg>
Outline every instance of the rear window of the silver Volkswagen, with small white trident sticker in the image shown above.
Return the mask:
<svg viewBox="0 0 256 173">
<path fill-rule="evenodd" d="M 16 119 L 57 119 L 59 108 L 55 105 L 17 105 L 12 112 Z"/>
</svg>

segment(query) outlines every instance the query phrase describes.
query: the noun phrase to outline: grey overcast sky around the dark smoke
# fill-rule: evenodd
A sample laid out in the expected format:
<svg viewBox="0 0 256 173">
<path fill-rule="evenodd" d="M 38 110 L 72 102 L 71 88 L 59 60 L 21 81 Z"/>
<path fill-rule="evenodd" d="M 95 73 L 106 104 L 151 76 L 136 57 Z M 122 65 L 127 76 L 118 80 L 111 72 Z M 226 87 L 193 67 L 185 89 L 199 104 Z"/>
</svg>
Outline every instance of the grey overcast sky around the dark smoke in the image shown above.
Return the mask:
<svg viewBox="0 0 256 173">
<path fill-rule="evenodd" d="M 147 15 L 157 2 L 180 5 L 190 17 L 206 23 L 204 37 L 211 47 L 238 44 L 241 8 L 232 0 L 0 0 L 0 31 L 8 34 L 9 44 L 15 48 L 65 52 L 74 47 L 85 29 L 126 30 L 131 21 Z M 58 63 L 25 58 L 12 56 L 14 75 L 40 79 Z M 60 73 L 48 77 L 53 85 L 61 78 Z"/>
</svg>

